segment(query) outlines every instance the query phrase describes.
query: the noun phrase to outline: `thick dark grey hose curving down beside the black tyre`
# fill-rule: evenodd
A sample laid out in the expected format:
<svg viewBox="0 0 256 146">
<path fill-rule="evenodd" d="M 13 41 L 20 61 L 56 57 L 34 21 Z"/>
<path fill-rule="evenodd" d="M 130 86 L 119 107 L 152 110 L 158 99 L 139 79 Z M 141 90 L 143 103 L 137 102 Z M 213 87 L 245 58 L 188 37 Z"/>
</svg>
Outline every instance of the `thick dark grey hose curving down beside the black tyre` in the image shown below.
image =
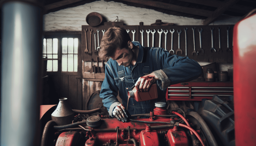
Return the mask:
<svg viewBox="0 0 256 146">
<path fill-rule="evenodd" d="M 187 113 L 187 115 L 194 117 L 200 123 L 200 125 L 202 126 L 202 129 L 204 129 L 205 136 L 208 137 L 210 146 L 218 146 L 217 141 L 214 138 L 205 120 L 195 111 L 190 111 L 189 113 Z"/>
</svg>

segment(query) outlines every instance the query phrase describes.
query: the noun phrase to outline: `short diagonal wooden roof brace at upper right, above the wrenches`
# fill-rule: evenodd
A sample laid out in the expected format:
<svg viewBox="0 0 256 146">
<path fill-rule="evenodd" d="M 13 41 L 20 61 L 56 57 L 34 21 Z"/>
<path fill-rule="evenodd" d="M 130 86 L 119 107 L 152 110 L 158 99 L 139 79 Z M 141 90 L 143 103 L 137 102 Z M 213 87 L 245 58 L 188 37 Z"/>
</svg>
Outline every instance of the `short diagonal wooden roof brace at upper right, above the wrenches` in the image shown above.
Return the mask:
<svg viewBox="0 0 256 146">
<path fill-rule="evenodd" d="M 239 0 L 229 0 L 226 4 L 218 7 L 211 15 L 211 17 L 208 17 L 204 20 L 204 25 L 210 24 L 212 21 L 217 19 L 221 14 L 223 14 L 227 9 L 232 7 L 234 4 L 236 4 Z"/>
</svg>

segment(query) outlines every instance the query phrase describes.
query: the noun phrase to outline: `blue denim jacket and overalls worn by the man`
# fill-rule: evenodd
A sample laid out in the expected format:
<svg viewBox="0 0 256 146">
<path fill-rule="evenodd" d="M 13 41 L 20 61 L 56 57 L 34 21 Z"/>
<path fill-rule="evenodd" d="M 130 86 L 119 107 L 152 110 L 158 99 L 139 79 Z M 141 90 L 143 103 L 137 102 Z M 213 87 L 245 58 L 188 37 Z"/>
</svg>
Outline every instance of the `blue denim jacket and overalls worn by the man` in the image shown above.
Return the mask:
<svg viewBox="0 0 256 146">
<path fill-rule="evenodd" d="M 119 105 L 116 98 L 122 99 L 123 105 L 127 106 L 127 92 L 132 90 L 139 77 L 144 76 L 143 66 L 150 66 L 150 73 L 154 72 L 160 79 L 157 81 L 158 98 L 143 102 L 137 102 L 130 98 L 127 111 L 131 114 L 146 114 L 154 109 L 155 102 L 165 101 L 167 87 L 173 84 L 188 82 L 198 78 L 202 74 L 201 66 L 188 57 L 172 55 L 163 48 L 143 47 L 139 42 L 133 41 L 135 46 L 139 46 L 136 64 L 124 67 L 125 77 L 121 81 L 118 76 L 117 62 L 109 59 L 105 65 L 105 79 L 101 86 L 100 97 L 103 98 L 103 105 L 109 110 L 113 117 L 113 109 Z M 149 58 L 148 58 L 149 57 Z M 147 63 L 145 63 L 147 62 Z"/>
</svg>

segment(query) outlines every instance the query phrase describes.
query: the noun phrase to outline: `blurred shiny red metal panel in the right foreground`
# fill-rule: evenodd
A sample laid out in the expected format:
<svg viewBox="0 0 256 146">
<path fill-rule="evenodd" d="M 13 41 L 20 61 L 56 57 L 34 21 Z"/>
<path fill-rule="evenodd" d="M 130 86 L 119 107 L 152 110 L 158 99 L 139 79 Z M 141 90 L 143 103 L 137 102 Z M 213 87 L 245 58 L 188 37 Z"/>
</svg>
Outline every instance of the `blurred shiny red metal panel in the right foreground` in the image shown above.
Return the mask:
<svg viewBox="0 0 256 146">
<path fill-rule="evenodd" d="M 256 143 L 256 14 L 234 26 L 233 82 L 236 145 Z"/>
</svg>

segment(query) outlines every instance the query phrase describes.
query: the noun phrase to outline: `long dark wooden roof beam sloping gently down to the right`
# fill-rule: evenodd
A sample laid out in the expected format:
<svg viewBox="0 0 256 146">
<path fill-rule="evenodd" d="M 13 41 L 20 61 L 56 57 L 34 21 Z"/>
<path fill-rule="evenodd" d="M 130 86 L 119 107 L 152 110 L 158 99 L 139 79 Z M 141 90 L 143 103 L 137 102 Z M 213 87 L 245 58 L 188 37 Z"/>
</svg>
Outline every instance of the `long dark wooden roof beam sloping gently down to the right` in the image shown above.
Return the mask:
<svg viewBox="0 0 256 146">
<path fill-rule="evenodd" d="M 138 1 L 138 0 L 121 0 L 121 1 L 131 2 L 131 3 L 135 3 L 135 4 L 146 5 L 146 6 L 152 6 L 152 7 L 156 7 L 156 8 L 167 9 L 167 10 L 188 13 L 188 14 L 193 14 L 193 15 L 205 16 L 205 17 L 210 17 L 212 14 L 212 11 L 209 11 L 209 10 L 188 8 L 188 7 L 177 6 L 177 5 L 173 5 L 173 4 L 157 2 L 157 1 L 152 1 L 152 0 L 140 0 L 140 1 Z"/>
</svg>

